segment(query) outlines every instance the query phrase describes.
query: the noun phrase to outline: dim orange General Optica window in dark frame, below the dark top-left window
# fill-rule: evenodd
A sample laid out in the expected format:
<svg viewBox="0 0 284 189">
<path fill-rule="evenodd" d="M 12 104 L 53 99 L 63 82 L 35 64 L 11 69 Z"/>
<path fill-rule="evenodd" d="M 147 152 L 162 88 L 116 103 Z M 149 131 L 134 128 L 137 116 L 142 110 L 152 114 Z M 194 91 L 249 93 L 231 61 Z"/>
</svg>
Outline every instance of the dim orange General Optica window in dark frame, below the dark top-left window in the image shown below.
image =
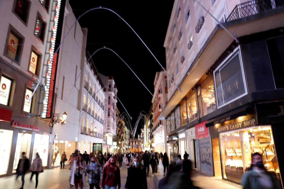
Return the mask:
<svg viewBox="0 0 284 189">
<path fill-rule="evenodd" d="M 5 49 L 5 55 L 17 63 L 20 62 L 20 56 L 22 51 L 23 37 L 16 34 L 17 32 L 9 31 L 7 46 Z"/>
</svg>

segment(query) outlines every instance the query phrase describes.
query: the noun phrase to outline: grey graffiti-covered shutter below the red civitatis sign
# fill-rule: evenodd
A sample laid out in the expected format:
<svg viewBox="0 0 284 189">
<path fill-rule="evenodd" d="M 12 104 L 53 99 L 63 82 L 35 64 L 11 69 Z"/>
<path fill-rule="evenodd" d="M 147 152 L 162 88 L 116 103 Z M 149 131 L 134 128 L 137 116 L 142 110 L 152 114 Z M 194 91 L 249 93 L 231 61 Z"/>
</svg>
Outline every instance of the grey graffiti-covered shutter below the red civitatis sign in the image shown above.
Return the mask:
<svg viewBox="0 0 284 189">
<path fill-rule="evenodd" d="M 197 140 L 199 171 L 213 176 L 211 139 Z"/>
</svg>

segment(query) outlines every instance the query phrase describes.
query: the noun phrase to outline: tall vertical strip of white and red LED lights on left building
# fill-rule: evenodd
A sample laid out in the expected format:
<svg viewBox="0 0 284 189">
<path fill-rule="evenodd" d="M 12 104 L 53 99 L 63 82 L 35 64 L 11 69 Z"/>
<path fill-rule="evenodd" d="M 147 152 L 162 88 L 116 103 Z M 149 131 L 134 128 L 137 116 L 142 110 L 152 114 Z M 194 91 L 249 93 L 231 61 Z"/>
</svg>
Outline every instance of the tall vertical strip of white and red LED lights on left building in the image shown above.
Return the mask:
<svg viewBox="0 0 284 189">
<path fill-rule="evenodd" d="M 44 87 L 45 91 L 44 91 L 44 97 L 43 97 L 43 110 L 41 113 L 42 118 L 51 117 L 55 68 L 56 68 L 56 61 L 57 61 L 57 53 L 54 54 L 54 48 L 55 48 L 55 39 L 56 39 L 57 27 L 58 27 L 60 5 L 61 5 L 61 0 L 57 0 L 56 5 L 55 5 L 55 16 L 51 20 L 51 22 L 53 22 L 53 27 L 52 27 L 51 39 L 50 41 L 48 41 L 50 42 L 50 48 L 49 48 L 49 58 L 47 60 L 48 69 L 46 73 L 46 81 L 45 81 L 45 87 Z"/>
</svg>

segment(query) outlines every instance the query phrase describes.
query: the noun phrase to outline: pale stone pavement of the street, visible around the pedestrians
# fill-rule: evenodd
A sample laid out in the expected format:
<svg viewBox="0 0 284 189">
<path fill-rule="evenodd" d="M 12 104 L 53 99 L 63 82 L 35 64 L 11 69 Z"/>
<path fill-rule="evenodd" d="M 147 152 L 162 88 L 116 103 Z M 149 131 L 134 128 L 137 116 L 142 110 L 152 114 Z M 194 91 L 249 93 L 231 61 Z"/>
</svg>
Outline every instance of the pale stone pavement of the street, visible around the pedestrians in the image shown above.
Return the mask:
<svg viewBox="0 0 284 189">
<path fill-rule="evenodd" d="M 127 168 L 126 164 L 122 164 L 122 169 L 120 170 L 121 175 L 121 189 L 124 189 L 124 185 L 127 177 Z M 31 173 L 27 173 L 25 175 L 25 185 L 24 189 L 33 189 L 36 185 L 36 177 L 34 175 L 32 181 L 30 181 Z M 162 163 L 159 163 L 158 173 L 155 173 L 155 177 L 152 177 L 152 170 L 150 165 L 149 177 L 147 177 L 147 184 L 149 189 L 156 189 L 158 182 L 164 176 Z M 21 187 L 21 177 L 16 179 L 16 175 L 11 177 L 3 177 L 0 178 L 0 189 L 18 189 Z M 66 166 L 65 169 L 53 168 L 44 170 L 43 173 L 39 174 L 39 184 L 37 186 L 38 189 L 74 189 L 73 187 L 69 187 L 69 167 Z M 226 180 L 222 180 L 222 178 L 210 177 L 193 171 L 192 180 L 195 186 L 199 186 L 202 189 L 210 188 L 210 189 L 227 189 L 227 188 L 241 188 L 239 184 L 235 184 Z M 84 189 L 88 189 L 89 184 L 86 182 L 84 185 Z"/>
</svg>

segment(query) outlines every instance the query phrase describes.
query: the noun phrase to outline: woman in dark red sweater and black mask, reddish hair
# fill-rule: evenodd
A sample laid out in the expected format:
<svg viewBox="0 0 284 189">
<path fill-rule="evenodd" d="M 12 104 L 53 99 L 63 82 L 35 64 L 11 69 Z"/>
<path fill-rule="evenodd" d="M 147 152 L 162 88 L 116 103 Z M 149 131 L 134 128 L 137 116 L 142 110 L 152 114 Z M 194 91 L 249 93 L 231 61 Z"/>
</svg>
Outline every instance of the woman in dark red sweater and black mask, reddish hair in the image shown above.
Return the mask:
<svg viewBox="0 0 284 189">
<path fill-rule="evenodd" d="M 116 186 L 120 189 L 120 169 L 116 159 L 112 156 L 103 169 L 101 189 L 116 189 Z"/>
</svg>

